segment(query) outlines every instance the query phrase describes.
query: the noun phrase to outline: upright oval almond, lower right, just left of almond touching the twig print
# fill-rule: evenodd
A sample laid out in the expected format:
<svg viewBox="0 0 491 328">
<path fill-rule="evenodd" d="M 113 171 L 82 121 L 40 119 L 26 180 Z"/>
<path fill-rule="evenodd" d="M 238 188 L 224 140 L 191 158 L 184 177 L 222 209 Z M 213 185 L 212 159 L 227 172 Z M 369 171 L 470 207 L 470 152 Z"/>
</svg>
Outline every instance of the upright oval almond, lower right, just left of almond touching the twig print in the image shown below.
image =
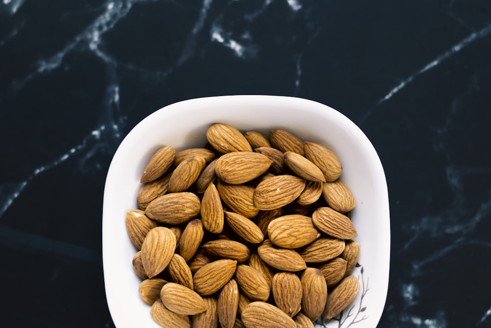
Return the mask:
<svg viewBox="0 0 491 328">
<path fill-rule="evenodd" d="M 310 320 L 319 318 L 326 305 L 327 284 L 321 271 L 317 268 L 306 268 L 300 276 L 302 284 L 302 312 Z"/>
</svg>

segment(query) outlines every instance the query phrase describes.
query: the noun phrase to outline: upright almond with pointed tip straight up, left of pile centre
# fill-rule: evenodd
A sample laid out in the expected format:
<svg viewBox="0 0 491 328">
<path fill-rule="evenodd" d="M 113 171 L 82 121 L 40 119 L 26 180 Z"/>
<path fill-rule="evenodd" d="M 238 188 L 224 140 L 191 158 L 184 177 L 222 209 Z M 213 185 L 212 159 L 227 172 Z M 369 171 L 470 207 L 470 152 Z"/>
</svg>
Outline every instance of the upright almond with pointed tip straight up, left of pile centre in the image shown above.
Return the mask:
<svg viewBox="0 0 491 328">
<path fill-rule="evenodd" d="M 201 220 L 205 229 L 212 234 L 218 234 L 223 230 L 223 206 L 213 182 L 208 185 L 201 199 Z"/>
</svg>

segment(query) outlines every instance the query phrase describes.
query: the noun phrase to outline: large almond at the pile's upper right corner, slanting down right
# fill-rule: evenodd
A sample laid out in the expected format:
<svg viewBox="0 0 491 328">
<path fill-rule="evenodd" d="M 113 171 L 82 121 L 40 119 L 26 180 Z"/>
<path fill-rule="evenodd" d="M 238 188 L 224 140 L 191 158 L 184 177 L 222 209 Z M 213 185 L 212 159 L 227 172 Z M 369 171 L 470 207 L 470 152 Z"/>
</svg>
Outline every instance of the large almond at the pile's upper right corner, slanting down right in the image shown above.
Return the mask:
<svg viewBox="0 0 491 328">
<path fill-rule="evenodd" d="M 339 178 L 343 168 L 336 154 L 325 146 L 306 141 L 303 144 L 305 157 L 321 169 L 326 181 L 334 181 Z"/>
</svg>

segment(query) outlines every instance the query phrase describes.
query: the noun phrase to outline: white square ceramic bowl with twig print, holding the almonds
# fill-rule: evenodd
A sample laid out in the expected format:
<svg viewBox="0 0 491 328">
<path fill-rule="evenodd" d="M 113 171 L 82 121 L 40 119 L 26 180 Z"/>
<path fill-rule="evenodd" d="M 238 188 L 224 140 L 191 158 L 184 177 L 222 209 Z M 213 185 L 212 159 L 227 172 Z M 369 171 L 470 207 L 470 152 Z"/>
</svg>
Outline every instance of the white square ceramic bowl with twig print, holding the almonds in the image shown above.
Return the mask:
<svg viewBox="0 0 491 328">
<path fill-rule="evenodd" d="M 109 311 L 117 328 L 160 327 L 138 294 L 140 278 L 132 259 L 137 249 L 126 232 L 125 217 L 137 209 L 139 178 L 162 145 L 176 151 L 203 147 L 215 122 L 242 132 L 269 136 L 284 129 L 303 141 L 323 144 L 343 166 L 356 208 L 352 221 L 360 244 L 357 297 L 336 319 L 316 327 L 374 328 L 385 304 L 389 277 L 389 205 L 385 176 L 374 147 L 363 132 L 336 110 L 318 102 L 284 96 L 235 95 L 191 99 L 168 105 L 139 122 L 124 138 L 109 167 L 103 207 L 103 263 Z"/>
</svg>

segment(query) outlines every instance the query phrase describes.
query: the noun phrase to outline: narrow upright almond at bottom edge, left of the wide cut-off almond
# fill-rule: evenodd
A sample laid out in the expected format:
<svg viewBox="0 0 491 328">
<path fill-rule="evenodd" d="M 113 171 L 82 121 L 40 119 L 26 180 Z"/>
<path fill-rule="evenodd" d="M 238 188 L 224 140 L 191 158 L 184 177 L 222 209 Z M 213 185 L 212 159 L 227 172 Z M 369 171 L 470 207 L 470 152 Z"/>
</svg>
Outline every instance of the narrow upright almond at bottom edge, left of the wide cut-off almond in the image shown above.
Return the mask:
<svg viewBox="0 0 491 328">
<path fill-rule="evenodd" d="M 233 328 L 239 306 L 239 286 L 230 279 L 218 294 L 218 322 L 221 328 Z"/>
</svg>

